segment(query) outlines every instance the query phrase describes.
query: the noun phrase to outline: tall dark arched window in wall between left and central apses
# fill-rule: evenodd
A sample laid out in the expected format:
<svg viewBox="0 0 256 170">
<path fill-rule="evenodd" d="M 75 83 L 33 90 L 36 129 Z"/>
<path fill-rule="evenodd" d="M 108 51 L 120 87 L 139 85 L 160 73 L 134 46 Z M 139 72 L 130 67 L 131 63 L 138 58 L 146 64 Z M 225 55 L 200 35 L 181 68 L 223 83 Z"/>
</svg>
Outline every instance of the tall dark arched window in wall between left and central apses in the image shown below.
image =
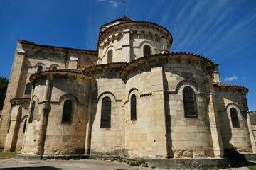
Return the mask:
<svg viewBox="0 0 256 170">
<path fill-rule="evenodd" d="M 100 128 L 110 128 L 111 123 L 111 99 L 105 97 L 102 99 L 102 115 Z"/>
</svg>

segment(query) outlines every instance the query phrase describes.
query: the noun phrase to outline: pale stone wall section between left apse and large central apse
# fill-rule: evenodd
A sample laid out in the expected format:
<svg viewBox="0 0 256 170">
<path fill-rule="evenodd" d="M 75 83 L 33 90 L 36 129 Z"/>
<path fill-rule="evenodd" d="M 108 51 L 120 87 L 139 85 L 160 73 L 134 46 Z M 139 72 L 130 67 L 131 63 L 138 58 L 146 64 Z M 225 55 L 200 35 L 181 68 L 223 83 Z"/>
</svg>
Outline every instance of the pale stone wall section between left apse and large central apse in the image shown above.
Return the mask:
<svg viewBox="0 0 256 170">
<path fill-rule="evenodd" d="M 111 75 L 110 75 L 111 74 Z M 96 75 L 95 75 L 96 76 Z M 97 98 L 92 111 L 91 154 L 124 154 L 124 82 L 119 79 L 119 69 L 97 75 Z M 110 128 L 101 128 L 102 99 L 111 99 Z"/>
</svg>

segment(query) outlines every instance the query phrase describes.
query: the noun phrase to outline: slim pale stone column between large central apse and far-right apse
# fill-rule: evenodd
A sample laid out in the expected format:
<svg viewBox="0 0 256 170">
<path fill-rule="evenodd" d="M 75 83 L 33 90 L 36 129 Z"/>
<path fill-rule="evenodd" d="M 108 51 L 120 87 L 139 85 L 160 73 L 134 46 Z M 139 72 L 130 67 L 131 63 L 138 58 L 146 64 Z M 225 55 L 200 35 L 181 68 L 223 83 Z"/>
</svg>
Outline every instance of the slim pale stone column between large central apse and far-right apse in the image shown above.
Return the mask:
<svg viewBox="0 0 256 170">
<path fill-rule="evenodd" d="M 208 94 L 209 103 L 208 103 L 208 115 L 210 121 L 210 132 L 213 140 L 213 154 L 214 157 L 223 157 L 223 142 L 220 134 L 220 127 L 218 125 L 218 111 L 215 106 L 215 98 L 213 96 L 213 89 L 210 89 L 211 92 Z"/>
</svg>

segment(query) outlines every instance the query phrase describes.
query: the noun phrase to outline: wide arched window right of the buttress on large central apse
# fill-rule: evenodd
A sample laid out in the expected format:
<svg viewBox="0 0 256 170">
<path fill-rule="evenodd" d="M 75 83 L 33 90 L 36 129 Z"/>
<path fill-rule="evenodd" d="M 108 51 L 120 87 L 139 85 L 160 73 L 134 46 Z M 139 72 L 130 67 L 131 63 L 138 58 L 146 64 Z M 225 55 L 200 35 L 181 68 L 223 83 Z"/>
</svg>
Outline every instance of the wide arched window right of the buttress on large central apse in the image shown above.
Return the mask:
<svg viewBox="0 0 256 170">
<path fill-rule="evenodd" d="M 183 103 L 185 117 L 196 117 L 196 96 L 191 87 L 186 86 L 183 89 Z"/>
</svg>

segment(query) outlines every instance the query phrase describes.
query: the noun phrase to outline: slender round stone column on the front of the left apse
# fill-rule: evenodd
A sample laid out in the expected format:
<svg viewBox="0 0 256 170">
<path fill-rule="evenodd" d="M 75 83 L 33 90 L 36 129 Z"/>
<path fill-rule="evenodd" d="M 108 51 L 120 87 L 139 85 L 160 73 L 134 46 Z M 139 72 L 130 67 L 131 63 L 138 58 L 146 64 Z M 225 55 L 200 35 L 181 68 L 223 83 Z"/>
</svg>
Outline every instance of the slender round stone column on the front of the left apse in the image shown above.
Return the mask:
<svg viewBox="0 0 256 170">
<path fill-rule="evenodd" d="M 49 112 L 49 101 L 50 101 L 50 77 L 46 78 L 46 86 L 45 91 L 43 94 L 43 106 L 41 109 L 41 118 L 38 123 L 38 134 L 36 135 L 36 154 L 41 155 L 43 154 L 42 147 L 43 147 L 43 138 L 45 135 L 46 129 L 46 117 L 48 116 Z"/>
</svg>

